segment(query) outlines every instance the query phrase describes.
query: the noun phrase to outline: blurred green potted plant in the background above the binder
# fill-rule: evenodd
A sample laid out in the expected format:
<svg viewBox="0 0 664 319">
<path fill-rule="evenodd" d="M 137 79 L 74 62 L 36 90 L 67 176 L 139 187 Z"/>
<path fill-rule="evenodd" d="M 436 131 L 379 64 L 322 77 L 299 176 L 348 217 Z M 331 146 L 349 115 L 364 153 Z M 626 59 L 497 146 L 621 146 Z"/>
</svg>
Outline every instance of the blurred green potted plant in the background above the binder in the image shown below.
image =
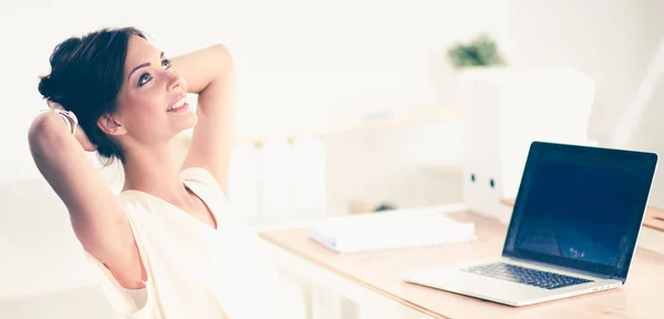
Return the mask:
<svg viewBox="0 0 664 319">
<path fill-rule="evenodd" d="M 496 41 L 486 33 L 467 44 L 456 43 L 447 50 L 447 58 L 455 69 L 507 64 Z"/>
</svg>

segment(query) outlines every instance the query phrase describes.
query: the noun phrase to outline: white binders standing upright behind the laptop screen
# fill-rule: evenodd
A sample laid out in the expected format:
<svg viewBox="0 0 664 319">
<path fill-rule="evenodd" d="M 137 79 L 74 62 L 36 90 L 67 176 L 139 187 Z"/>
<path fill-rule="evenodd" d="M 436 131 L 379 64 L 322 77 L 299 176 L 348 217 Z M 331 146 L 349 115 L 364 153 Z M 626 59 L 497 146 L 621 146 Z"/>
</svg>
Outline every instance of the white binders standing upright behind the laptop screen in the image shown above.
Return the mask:
<svg viewBox="0 0 664 319">
<path fill-rule="evenodd" d="M 587 128 L 595 85 L 570 68 L 478 69 L 460 79 L 464 202 L 507 222 L 511 209 L 500 199 L 516 197 L 531 142 L 593 144 Z"/>
</svg>

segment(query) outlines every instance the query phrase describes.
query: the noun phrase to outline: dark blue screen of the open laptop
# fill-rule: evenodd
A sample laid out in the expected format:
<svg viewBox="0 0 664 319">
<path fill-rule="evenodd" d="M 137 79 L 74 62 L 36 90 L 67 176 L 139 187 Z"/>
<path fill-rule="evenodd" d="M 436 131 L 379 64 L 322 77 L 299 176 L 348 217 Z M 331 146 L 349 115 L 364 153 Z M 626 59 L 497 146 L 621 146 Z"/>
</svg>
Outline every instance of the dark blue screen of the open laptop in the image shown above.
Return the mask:
<svg viewBox="0 0 664 319">
<path fill-rule="evenodd" d="M 533 143 L 504 256 L 624 280 L 656 163 L 652 153 Z"/>
</svg>

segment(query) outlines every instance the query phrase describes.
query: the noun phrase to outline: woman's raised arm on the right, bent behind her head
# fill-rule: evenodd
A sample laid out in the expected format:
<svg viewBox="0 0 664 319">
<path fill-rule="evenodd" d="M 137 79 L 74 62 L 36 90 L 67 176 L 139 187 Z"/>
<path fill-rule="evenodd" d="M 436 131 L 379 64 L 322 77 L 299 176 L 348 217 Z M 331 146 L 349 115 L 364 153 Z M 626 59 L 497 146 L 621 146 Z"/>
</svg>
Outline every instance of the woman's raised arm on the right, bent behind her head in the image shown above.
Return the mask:
<svg viewBox="0 0 664 319">
<path fill-rule="evenodd" d="M 235 140 L 235 74 L 230 54 L 214 45 L 173 59 L 173 68 L 187 81 L 188 93 L 198 94 L 198 123 L 183 168 L 203 167 L 226 191 L 230 152 Z"/>
</svg>

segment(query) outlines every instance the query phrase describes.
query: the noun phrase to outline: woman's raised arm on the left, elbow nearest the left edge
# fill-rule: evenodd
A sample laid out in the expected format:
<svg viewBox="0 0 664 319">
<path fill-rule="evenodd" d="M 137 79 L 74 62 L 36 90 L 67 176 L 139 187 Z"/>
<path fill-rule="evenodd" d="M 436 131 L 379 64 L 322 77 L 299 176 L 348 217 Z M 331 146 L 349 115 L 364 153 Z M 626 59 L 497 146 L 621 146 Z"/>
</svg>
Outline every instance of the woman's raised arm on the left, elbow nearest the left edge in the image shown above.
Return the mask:
<svg viewBox="0 0 664 319">
<path fill-rule="evenodd" d="M 28 138 L 37 167 L 65 204 L 83 248 L 124 287 L 142 287 L 145 271 L 126 215 L 66 123 L 43 113 L 32 122 Z"/>
</svg>

